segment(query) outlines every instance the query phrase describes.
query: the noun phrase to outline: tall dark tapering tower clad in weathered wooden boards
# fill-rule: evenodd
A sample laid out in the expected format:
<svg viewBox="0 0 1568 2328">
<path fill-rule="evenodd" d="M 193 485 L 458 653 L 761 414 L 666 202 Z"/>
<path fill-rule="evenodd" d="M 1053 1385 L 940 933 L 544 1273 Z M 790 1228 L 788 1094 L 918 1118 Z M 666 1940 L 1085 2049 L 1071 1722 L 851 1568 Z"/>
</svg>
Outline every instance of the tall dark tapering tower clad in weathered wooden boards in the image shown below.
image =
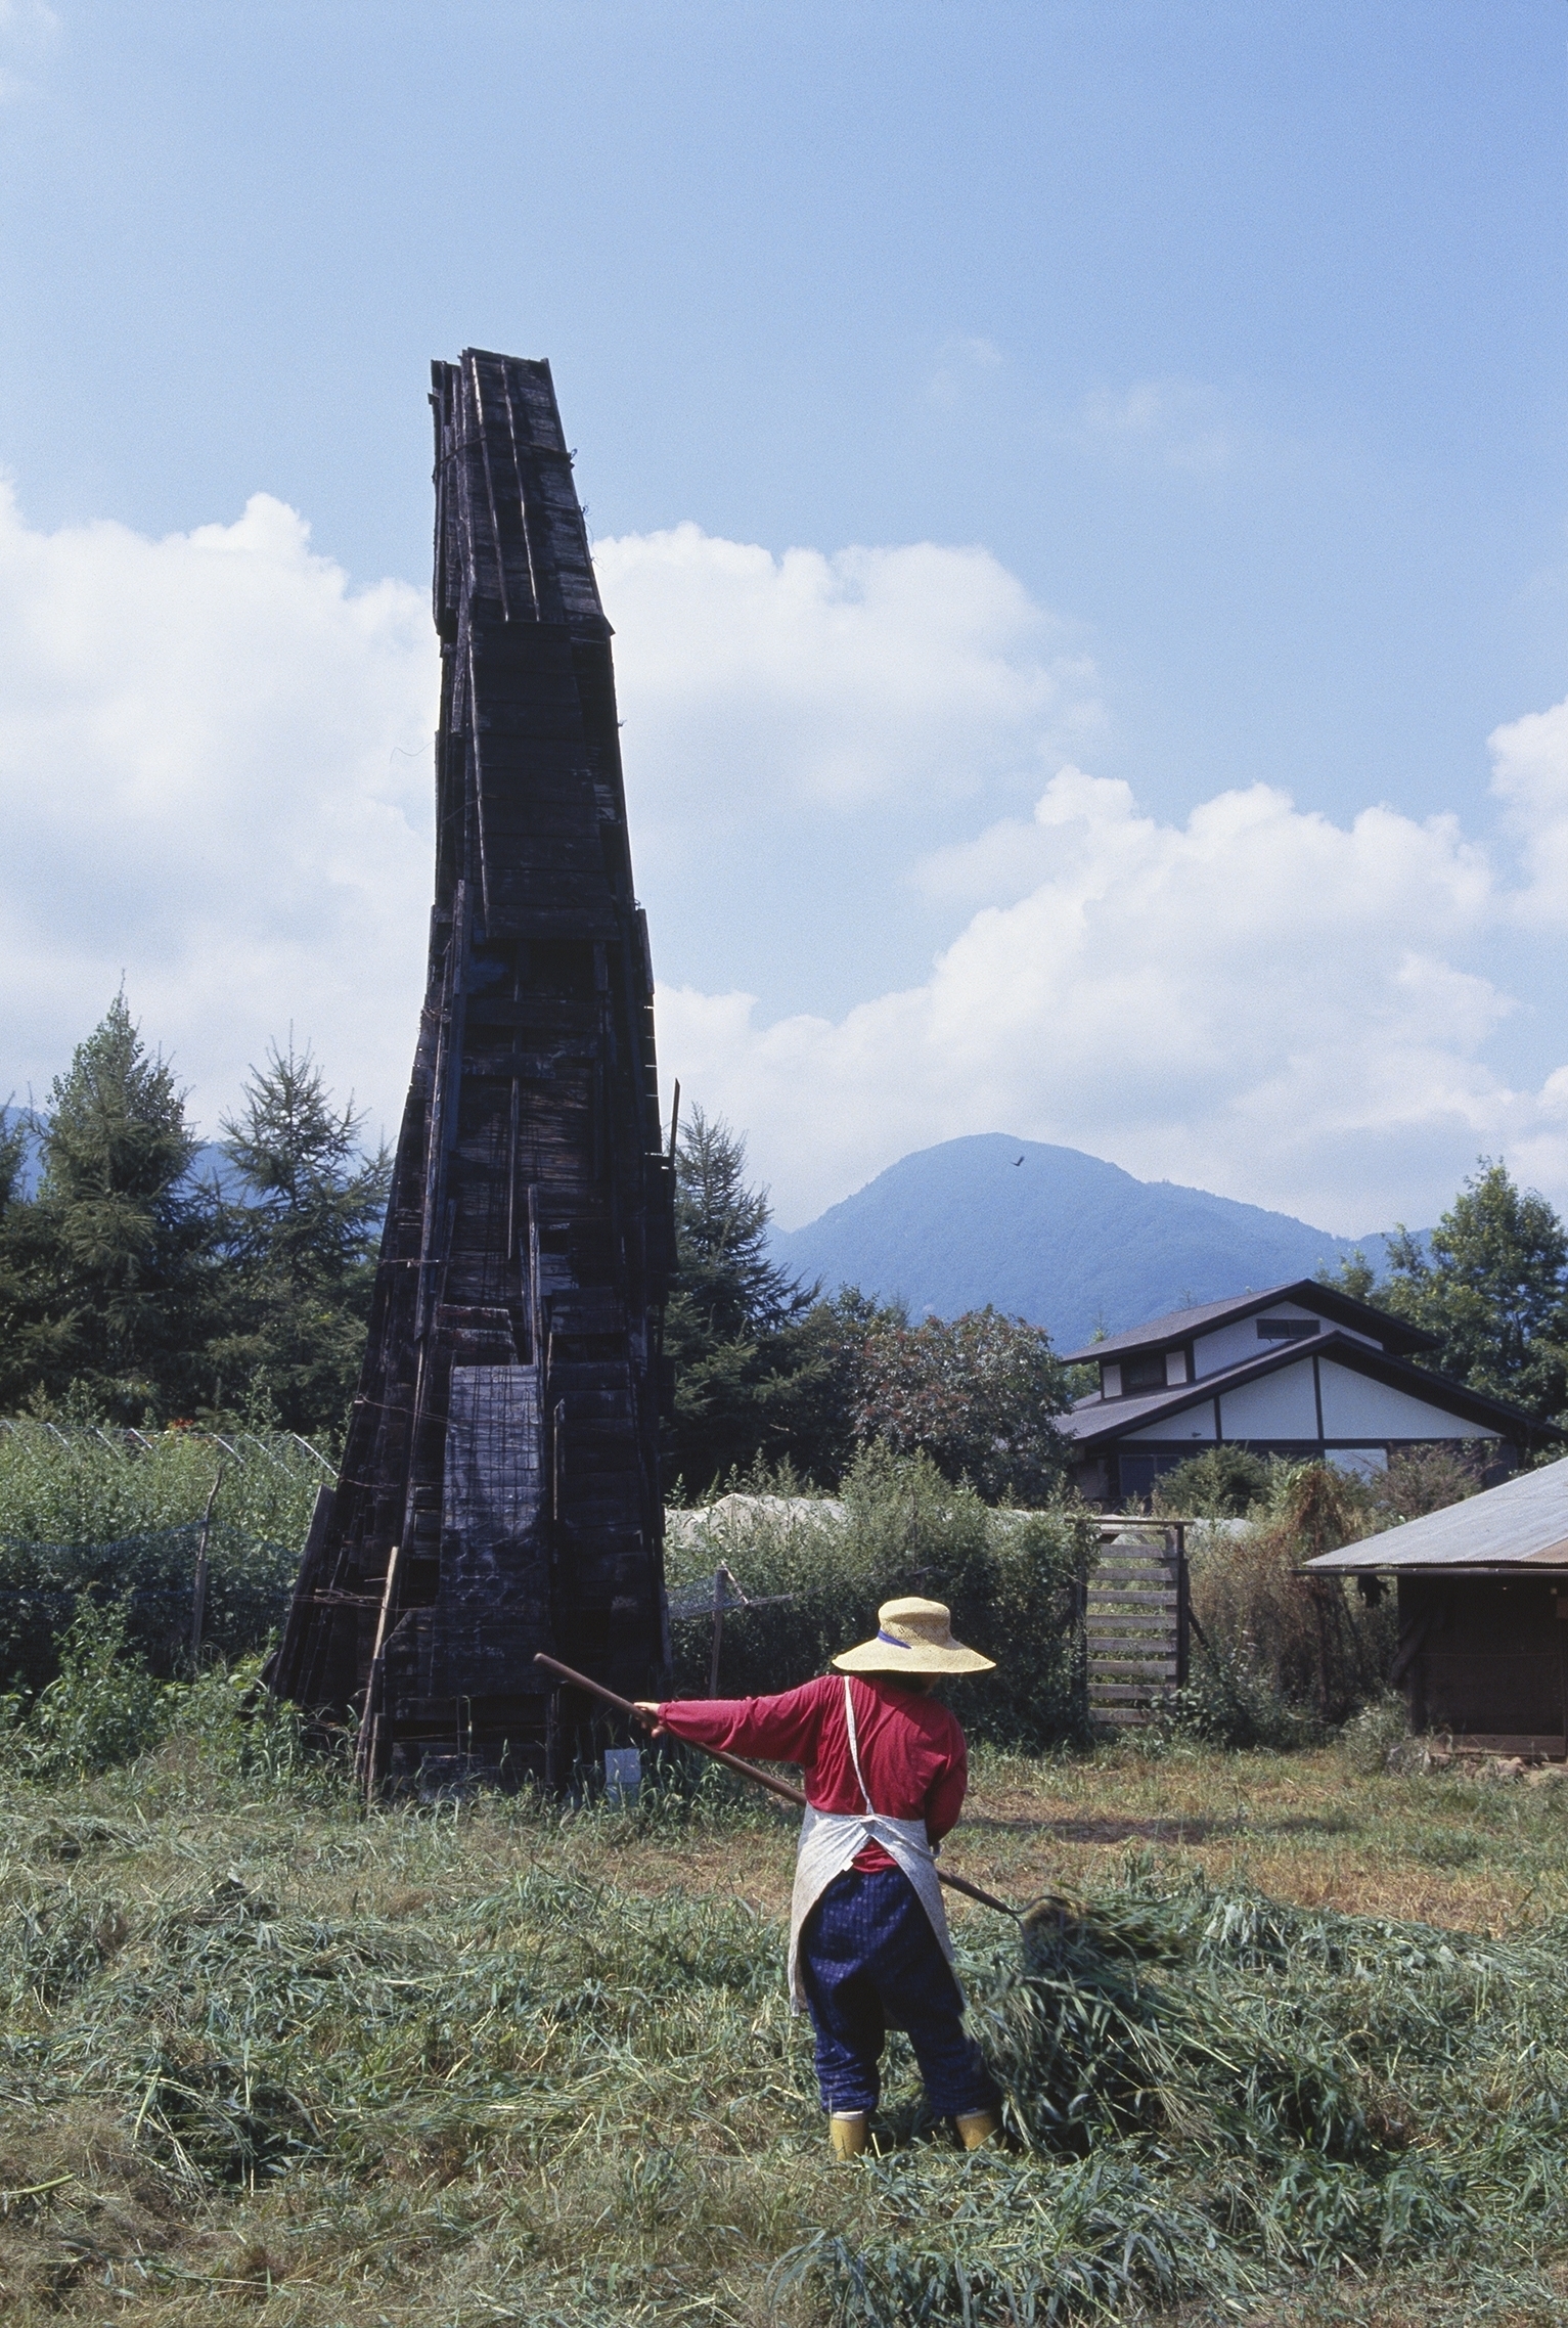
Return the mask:
<svg viewBox="0 0 1568 2328">
<path fill-rule="evenodd" d="M 561 1783 L 544 1648 L 647 1695 L 672 1171 L 610 624 L 547 363 L 433 365 L 435 910 L 370 1346 L 275 1690 L 370 1786 Z"/>
</svg>

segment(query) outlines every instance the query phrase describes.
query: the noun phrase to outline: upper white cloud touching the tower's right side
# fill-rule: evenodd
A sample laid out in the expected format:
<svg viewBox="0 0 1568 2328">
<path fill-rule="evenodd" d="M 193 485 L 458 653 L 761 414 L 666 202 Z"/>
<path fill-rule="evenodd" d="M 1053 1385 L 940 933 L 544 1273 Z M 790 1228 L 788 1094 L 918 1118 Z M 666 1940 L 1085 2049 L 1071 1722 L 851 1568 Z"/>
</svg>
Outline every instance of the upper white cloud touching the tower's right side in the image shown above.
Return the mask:
<svg viewBox="0 0 1568 2328">
<path fill-rule="evenodd" d="M 1100 726 L 1093 668 L 989 549 L 772 556 L 684 524 L 593 563 L 656 817 L 963 799 Z"/>
</svg>

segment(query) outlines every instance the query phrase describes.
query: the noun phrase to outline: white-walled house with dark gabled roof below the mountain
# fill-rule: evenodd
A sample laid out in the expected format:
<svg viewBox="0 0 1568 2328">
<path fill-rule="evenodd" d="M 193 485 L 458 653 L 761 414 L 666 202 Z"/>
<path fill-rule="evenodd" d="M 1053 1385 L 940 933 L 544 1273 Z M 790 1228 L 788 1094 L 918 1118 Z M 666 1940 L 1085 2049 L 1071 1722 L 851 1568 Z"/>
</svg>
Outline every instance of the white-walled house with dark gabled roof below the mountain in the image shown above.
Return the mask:
<svg viewBox="0 0 1568 2328">
<path fill-rule="evenodd" d="M 1368 1476 L 1400 1448 L 1470 1441 L 1501 1478 L 1561 1439 L 1519 1406 L 1412 1364 L 1435 1348 L 1421 1327 L 1298 1278 L 1068 1350 L 1070 1364 L 1098 1367 L 1098 1390 L 1061 1418 L 1077 1488 L 1126 1511 L 1214 1446 Z"/>
</svg>

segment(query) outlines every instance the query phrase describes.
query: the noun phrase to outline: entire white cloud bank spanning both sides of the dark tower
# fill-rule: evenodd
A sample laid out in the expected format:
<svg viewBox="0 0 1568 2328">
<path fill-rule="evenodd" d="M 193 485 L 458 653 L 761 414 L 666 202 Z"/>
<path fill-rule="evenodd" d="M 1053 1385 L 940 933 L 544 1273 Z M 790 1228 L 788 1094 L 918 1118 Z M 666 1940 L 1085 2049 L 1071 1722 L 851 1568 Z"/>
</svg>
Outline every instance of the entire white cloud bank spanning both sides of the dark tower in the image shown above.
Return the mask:
<svg viewBox="0 0 1568 2328">
<path fill-rule="evenodd" d="M 1568 917 L 1568 705 L 1491 738 L 1496 843 L 1480 799 L 1335 824 L 1268 782 L 1161 819 L 984 549 L 675 526 L 598 566 L 665 1085 L 782 1220 L 989 1129 L 1333 1229 L 1431 1218 L 1480 1150 L 1568 1199 L 1568 1038 L 1510 985 Z M 0 498 L 0 1096 L 126 973 L 207 1129 L 291 1024 L 395 1124 L 435 680 L 423 591 L 351 587 L 265 494 L 165 540 Z"/>
</svg>

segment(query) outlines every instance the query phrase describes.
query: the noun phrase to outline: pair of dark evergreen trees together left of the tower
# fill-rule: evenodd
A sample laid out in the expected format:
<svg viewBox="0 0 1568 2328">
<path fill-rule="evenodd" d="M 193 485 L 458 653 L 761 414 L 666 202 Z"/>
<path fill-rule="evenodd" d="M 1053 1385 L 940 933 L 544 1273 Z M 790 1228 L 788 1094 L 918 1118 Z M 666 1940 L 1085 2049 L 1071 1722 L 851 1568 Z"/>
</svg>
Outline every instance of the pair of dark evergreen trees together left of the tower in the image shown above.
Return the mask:
<svg viewBox="0 0 1568 2328">
<path fill-rule="evenodd" d="M 228 1190 L 195 1178 L 186 1094 L 116 994 L 49 1106 L 0 1131 L 0 1411 L 340 1425 L 386 1157 L 361 1155 L 354 1108 L 293 1043 L 223 1129 Z"/>
</svg>

